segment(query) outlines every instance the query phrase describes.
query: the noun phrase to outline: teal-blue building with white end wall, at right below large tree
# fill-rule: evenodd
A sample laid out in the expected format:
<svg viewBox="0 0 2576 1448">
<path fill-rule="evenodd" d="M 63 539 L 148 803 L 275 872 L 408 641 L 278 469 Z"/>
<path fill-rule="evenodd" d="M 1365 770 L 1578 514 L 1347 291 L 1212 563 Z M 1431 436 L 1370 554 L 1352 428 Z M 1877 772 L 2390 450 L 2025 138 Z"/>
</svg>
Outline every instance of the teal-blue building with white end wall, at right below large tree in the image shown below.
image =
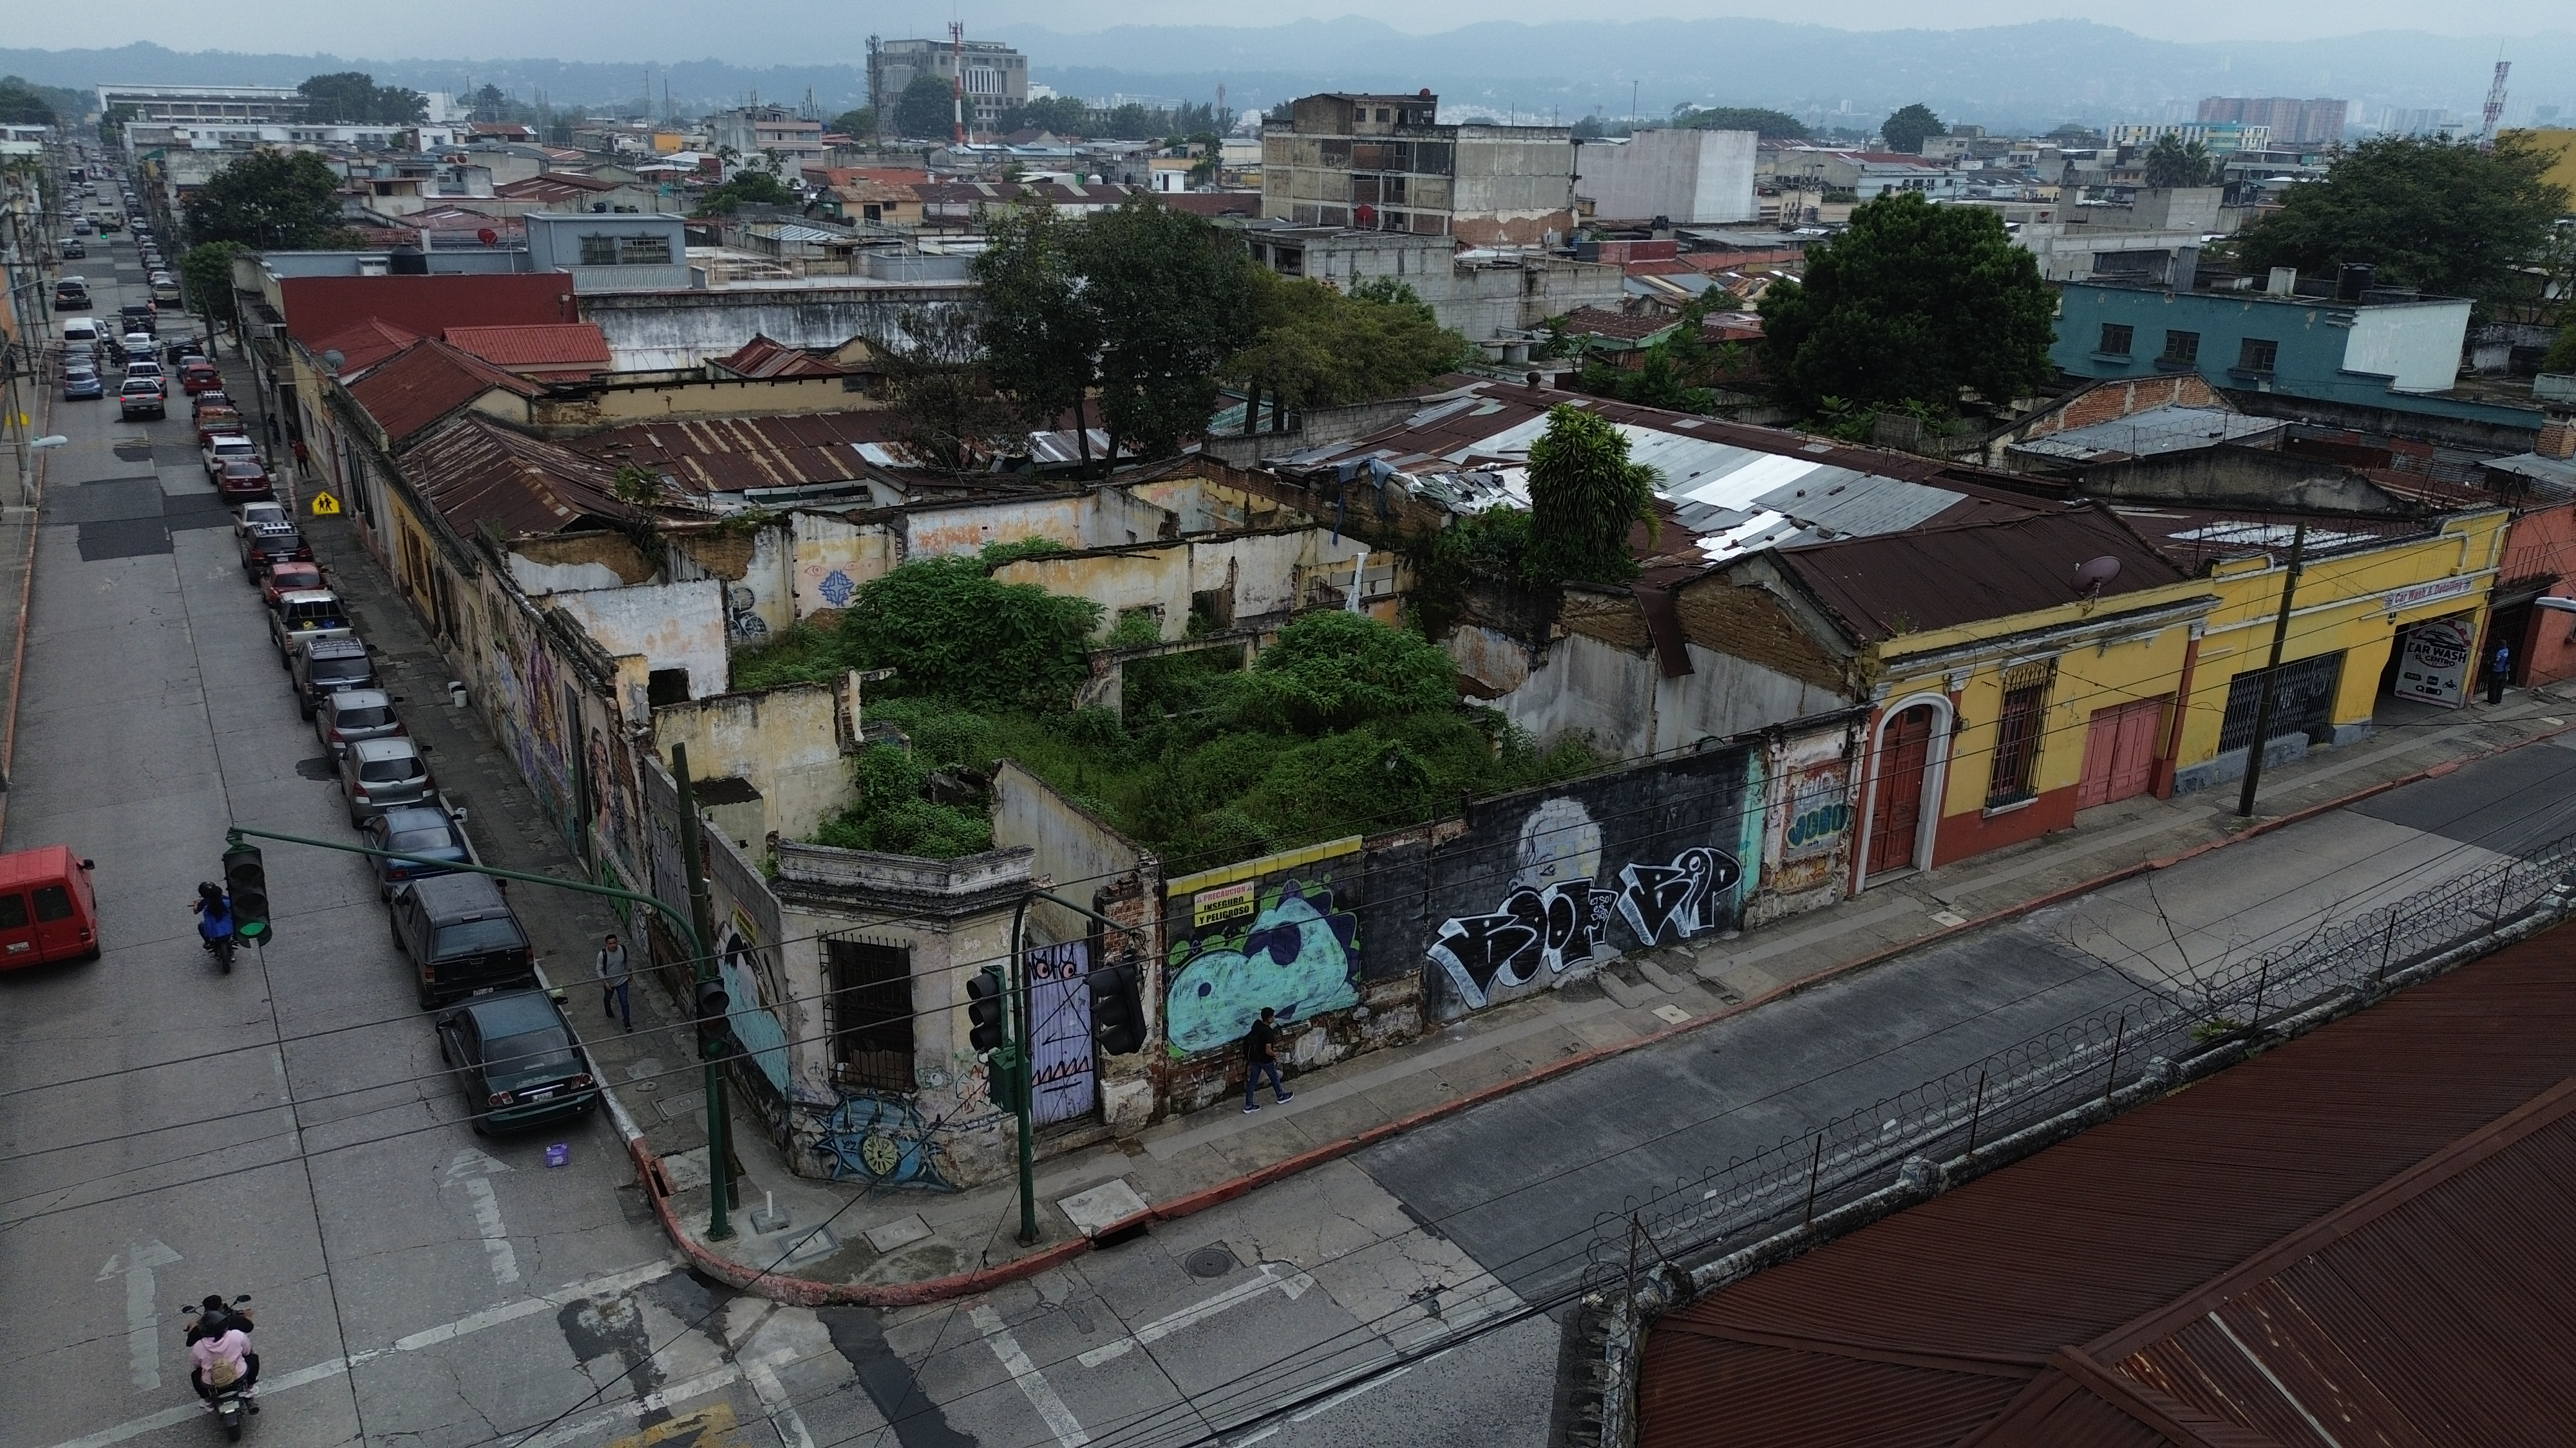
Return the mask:
<svg viewBox="0 0 2576 1448">
<path fill-rule="evenodd" d="M 2527 407 L 2452 394 L 2465 338 L 2465 296 L 2336 296 L 2282 271 L 2272 291 L 2066 283 L 2048 356 L 2071 376 L 2197 371 L 2210 386 L 2537 428 Z"/>
</svg>

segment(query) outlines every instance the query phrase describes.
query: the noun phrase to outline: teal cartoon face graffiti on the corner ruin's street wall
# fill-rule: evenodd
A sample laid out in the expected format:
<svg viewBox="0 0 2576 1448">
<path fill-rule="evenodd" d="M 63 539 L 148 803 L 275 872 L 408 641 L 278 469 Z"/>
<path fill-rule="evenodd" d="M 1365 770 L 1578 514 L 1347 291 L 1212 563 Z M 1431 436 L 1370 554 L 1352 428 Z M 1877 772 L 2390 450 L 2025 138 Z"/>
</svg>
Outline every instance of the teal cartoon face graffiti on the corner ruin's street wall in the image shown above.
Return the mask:
<svg viewBox="0 0 2576 1448">
<path fill-rule="evenodd" d="M 1283 1023 L 1358 1005 L 1358 925 L 1332 907 L 1329 886 L 1288 881 L 1242 935 L 1172 946 L 1164 1007 L 1172 1051 L 1190 1056 L 1242 1041 L 1265 1005 Z"/>
</svg>

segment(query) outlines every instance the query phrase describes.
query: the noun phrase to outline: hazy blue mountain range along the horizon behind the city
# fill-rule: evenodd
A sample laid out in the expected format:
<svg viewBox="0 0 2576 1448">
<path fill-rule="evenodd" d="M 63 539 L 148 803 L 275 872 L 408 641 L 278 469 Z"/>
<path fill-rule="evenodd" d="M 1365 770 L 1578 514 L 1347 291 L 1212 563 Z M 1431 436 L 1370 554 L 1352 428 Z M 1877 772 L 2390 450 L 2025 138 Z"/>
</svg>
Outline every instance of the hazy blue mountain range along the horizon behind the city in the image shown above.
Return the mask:
<svg viewBox="0 0 2576 1448">
<path fill-rule="evenodd" d="M 829 26 L 829 23 L 827 23 Z M 2476 116 L 2499 39 L 2378 31 L 2311 41 L 2151 41 L 2089 21 L 1968 31 L 1837 31 L 1783 21 L 1479 23 L 1409 36 L 1378 21 L 1298 21 L 1267 28 L 1121 26 L 1090 33 L 997 31 L 1030 57 L 1030 75 L 1069 95 L 1133 95 L 1270 106 L 1311 90 L 1432 88 L 1448 103 L 1574 119 L 1695 106 L 1777 106 L 1868 126 L 1909 100 L 1986 126 L 2187 116 L 2202 95 L 2342 95 L 2362 108 L 2450 108 Z M 2509 121 L 2535 111 L 2576 119 L 2576 33 L 2506 39 Z M 680 108 L 762 100 L 824 113 L 866 100 L 863 36 L 817 36 L 806 52 L 850 64 L 750 67 L 716 59 L 598 64 L 564 59 L 358 59 L 330 54 L 118 49 L 0 49 L 0 72 L 49 85 L 126 82 L 294 85 L 314 72 L 366 70 L 415 90 L 500 85 L 562 106 L 636 103 L 647 75 Z M 2548 116 L 2543 116 L 2548 119 Z"/>
</svg>

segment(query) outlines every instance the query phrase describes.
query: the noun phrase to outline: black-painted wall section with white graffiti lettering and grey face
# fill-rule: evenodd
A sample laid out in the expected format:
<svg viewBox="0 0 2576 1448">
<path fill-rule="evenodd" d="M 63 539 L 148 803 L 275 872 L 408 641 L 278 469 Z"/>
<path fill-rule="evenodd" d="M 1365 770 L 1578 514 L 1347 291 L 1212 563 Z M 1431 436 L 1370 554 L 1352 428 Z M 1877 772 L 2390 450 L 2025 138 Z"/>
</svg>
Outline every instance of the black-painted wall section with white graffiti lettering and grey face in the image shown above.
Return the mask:
<svg viewBox="0 0 2576 1448">
<path fill-rule="evenodd" d="M 1752 886 L 1752 747 L 1731 745 L 1484 799 L 1463 832 L 1373 843 L 1363 974 L 1422 971 L 1425 1013 L 1448 1020 L 1731 930 Z"/>
</svg>

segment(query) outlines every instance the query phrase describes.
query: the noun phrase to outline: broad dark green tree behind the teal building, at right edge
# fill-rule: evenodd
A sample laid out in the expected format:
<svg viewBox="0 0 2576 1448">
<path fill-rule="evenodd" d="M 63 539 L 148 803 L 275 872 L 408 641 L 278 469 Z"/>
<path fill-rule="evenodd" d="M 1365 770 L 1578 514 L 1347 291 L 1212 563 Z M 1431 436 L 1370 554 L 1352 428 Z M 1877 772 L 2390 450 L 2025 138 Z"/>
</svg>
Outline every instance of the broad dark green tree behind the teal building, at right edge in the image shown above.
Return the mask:
<svg viewBox="0 0 2576 1448">
<path fill-rule="evenodd" d="M 2550 152 L 2514 131 L 2494 149 L 2445 137 L 2380 137 L 2293 186 L 2280 211 L 2239 237 L 2239 265 L 2331 273 L 2370 263 L 2380 283 L 2476 299 L 2494 312 L 2517 294 L 2517 268 L 2568 211 L 2548 180 Z"/>
</svg>

